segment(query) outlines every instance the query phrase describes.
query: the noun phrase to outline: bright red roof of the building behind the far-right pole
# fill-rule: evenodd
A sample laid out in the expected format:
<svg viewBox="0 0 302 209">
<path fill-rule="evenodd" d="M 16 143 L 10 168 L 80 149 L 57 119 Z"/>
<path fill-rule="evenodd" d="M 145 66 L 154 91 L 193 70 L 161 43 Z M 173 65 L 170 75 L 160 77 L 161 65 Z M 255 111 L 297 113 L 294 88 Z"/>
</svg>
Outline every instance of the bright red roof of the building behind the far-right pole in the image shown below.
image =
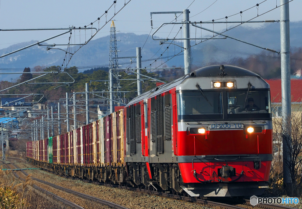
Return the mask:
<svg viewBox="0 0 302 209">
<path fill-rule="evenodd" d="M 265 80 L 271 88 L 271 102 L 281 102 L 281 79 Z M 291 102 L 302 101 L 302 79 L 291 79 Z"/>
</svg>

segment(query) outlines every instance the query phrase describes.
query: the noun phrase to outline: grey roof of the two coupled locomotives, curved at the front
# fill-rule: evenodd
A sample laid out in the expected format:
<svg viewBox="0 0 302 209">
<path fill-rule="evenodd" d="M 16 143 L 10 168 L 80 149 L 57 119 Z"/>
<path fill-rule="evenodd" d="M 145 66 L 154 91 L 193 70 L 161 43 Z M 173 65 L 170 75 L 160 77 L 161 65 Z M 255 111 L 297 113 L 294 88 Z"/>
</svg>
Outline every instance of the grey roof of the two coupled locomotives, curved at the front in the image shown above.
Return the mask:
<svg viewBox="0 0 302 209">
<path fill-rule="evenodd" d="M 220 69 L 220 66 L 221 65 L 211 65 L 211 66 L 206 66 L 206 67 L 202 67 L 197 70 L 194 70 L 193 72 L 190 72 L 185 76 L 182 76 L 178 79 L 175 79 L 168 83 L 162 84 L 147 92 L 142 93 L 141 95 L 133 98 L 126 106 L 139 102 L 139 101 L 145 99 L 146 97 L 150 97 L 153 95 L 157 95 L 161 92 L 165 92 L 165 90 L 168 90 L 168 89 L 171 89 L 171 88 L 177 86 L 178 84 L 180 84 L 182 82 L 183 79 L 187 79 L 187 78 L 260 77 L 258 74 L 254 73 L 252 71 L 249 71 L 247 69 L 241 68 L 241 67 L 232 66 L 232 65 L 223 65 L 224 69 L 222 71 Z M 194 73 L 194 75 L 192 73 Z"/>
</svg>

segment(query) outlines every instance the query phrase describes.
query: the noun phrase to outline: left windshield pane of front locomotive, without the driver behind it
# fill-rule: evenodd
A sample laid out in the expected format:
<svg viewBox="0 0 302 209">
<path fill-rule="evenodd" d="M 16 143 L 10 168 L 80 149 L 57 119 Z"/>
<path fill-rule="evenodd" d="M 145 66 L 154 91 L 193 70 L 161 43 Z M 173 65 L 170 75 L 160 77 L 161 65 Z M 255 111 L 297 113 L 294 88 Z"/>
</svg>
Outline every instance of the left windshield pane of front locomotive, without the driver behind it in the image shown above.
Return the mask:
<svg viewBox="0 0 302 209">
<path fill-rule="evenodd" d="M 178 120 L 222 119 L 221 92 L 177 92 Z"/>
</svg>

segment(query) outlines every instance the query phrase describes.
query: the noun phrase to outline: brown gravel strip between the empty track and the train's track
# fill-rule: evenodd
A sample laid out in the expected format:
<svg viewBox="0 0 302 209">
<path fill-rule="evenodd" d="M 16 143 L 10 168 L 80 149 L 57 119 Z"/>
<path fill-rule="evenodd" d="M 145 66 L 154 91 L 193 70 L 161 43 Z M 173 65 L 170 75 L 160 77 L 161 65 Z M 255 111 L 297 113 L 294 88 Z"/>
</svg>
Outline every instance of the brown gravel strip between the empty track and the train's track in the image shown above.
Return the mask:
<svg viewBox="0 0 302 209">
<path fill-rule="evenodd" d="M 34 167 L 28 163 L 16 163 L 16 165 L 19 168 Z M 74 191 L 111 201 L 130 209 L 221 209 L 221 207 L 205 207 L 201 204 L 148 195 L 142 192 L 94 185 L 82 182 L 81 180 L 63 178 L 43 170 L 26 170 L 26 172 L 32 173 L 34 178 L 39 178 L 43 181 L 51 182 Z"/>
</svg>

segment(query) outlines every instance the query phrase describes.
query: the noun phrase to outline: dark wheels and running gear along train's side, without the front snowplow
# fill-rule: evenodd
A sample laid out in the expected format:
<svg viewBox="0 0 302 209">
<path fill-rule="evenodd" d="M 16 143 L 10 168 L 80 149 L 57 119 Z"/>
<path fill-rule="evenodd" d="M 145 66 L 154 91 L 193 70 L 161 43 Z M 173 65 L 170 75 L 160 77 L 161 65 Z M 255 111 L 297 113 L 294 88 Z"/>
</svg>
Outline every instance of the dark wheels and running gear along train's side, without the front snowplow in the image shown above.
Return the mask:
<svg viewBox="0 0 302 209">
<path fill-rule="evenodd" d="M 55 172 L 58 175 L 75 177 L 95 182 L 149 188 L 150 190 L 182 193 L 181 175 L 176 164 L 152 164 L 152 179 L 150 180 L 146 164 L 128 162 L 127 165 L 99 166 L 59 164 L 37 161 L 27 158 L 34 166 Z"/>
</svg>

